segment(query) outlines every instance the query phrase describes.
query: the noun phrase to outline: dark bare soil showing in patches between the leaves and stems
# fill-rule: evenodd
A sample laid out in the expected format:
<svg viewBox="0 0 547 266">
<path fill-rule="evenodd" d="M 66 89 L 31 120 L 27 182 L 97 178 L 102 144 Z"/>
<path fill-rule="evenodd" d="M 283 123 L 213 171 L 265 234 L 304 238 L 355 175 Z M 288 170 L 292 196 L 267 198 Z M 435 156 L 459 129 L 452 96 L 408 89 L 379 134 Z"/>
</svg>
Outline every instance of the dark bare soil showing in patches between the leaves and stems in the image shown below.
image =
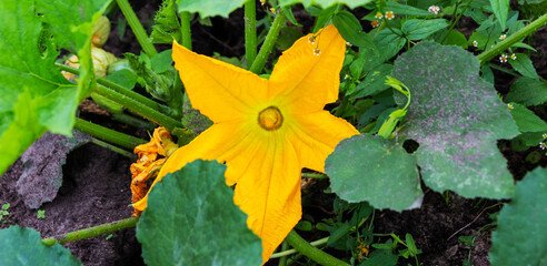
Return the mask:
<svg viewBox="0 0 547 266">
<path fill-rule="evenodd" d="M 149 28 L 150 18 L 161 1 L 131 1 L 138 17 Z M 265 16 L 258 4 L 258 17 Z M 306 21 L 304 11 L 295 11 L 305 27 L 311 27 Z M 113 21 L 111 37 L 105 47 L 107 51 L 122 57 L 123 52 L 139 53 L 140 47 L 135 41 L 131 30 L 127 27 L 123 37 L 118 37 L 118 11 Z M 309 18 L 308 18 L 309 19 Z M 193 20 L 192 38 L 195 50 L 211 55 L 219 52 L 225 57 L 241 58 L 245 53 L 242 43 L 243 20 L 242 10 L 231 13 L 229 19 L 212 18 L 213 27 L 201 25 Z M 364 24 L 365 25 L 365 24 Z M 365 25 L 367 27 L 367 25 Z M 233 34 L 236 33 L 236 34 Z M 533 55 L 534 65 L 543 78 L 547 78 L 547 28 L 539 30 L 534 37 L 534 48 L 541 54 Z M 158 45 L 158 50 L 169 45 Z M 495 86 L 501 93 L 507 93 L 515 78 L 503 72 L 495 72 Z M 545 106 L 535 110 L 545 119 Z M 135 130 L 127 125 L 112 122 L 108 113 L 99 110 L 90 101 L 80 108 L 80 115 L 95 123 L 103 124 L 125 133 L 147 139 L 146 130 Z M 520 180 L 527 172 L 538 165 L 546 166 L 547 158 L 541 155 L 539 162 L 530 163 L 526 158 L 533 152 L 541 152 L 539 147 L 526 152 L 514 152 L 510 143 L 500 141 L 499 147 L 508 161 L 508 168 L 515 180 Z M 540 154 L 544 154 L 541 152 Z M 46 211 L 44 218 L 37 218 L 37 209 L 29 208 L 19 196 L 16 183 L 23 171 L 20 161 L 0 178 L 0 205 L 10 203 L 9 216 L 0 222 L 0 228 L 19 224 L 39 231 L 42 237 L 54 236 L 108 222 L 130 217 L 132 208 L 131 192 L 129 190 L 131 160 L 100 147 L 96 144 L 84 144 L 69 153 L 63 166 L 63 181 L 57 197 L 44 203 L 39 209 Z M 324 186 L 321 182 L 310 182 L 308 186 Z M 306 190 L 306 197 L 312 198 L 310 207 L 305 208 L 305 215 L 334 217 L 332 196 L 320 193 L 322 190 Z M 395 233 L 405 236 L 410 233 L 417 247 L 422 252 L 419 255 L 421 265 L 461 265 L 470 257 L 476 266 L 489 265 L 488 250 L 493 219 L 490 214 L 499 211 L 499 202 L 485 200 L 466 200 L 454 193 L 439 194 L 425 187 L 425 198 L 420 208 L 396 213 L 390 211 L 376 212 L 374 231 L 378 234 Z M 319 206 L 319 207 L 317 207 Z M 460 236 L 477 235 L 474 245 L 465 245 L 458 241 Z M 317 239 L 317 238 L 315 238 Z M 375 239 L 385 242 L 386 237 Z M 145 265 L 140 256 L 140 245 L 135 236 L 135 228 L 123 229 L 111 235 L 97 236 L 89 239 L 64 244 L 83 265 Z M 337 254 L 337 250 L 326 249 Z M 414 260 L 399 259 L 399 265 L 414 264 Z M 269 265 L 277 265 L 272 260 Z"/>
</svg>

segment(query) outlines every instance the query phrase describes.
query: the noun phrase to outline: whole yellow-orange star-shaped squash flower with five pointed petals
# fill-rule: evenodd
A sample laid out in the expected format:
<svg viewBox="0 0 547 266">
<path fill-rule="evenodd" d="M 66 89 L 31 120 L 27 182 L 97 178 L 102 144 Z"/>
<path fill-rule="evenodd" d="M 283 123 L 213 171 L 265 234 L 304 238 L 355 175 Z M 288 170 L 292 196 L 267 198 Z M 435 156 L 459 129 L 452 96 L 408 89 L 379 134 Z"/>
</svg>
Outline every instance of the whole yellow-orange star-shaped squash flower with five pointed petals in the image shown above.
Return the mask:
<svg viewBox="0 0 547 266">
<path fill-rule="evenodd" d="M 237 184 L 233 202 L 262 239 L 263 262 L 300 219 L 301 168 L 325 172 L 335 146 L 359 133 L 324 110 L 338 99 L 346 41 L 334 25 L 314 43 L 310 37 L 284 52 L 269 80 L 178 43 L 172 49 L 192 108 L 215 123 L 177 150 L 155 183 L 197 158 L 226 163 L 226 183 Z"/>
</svg>

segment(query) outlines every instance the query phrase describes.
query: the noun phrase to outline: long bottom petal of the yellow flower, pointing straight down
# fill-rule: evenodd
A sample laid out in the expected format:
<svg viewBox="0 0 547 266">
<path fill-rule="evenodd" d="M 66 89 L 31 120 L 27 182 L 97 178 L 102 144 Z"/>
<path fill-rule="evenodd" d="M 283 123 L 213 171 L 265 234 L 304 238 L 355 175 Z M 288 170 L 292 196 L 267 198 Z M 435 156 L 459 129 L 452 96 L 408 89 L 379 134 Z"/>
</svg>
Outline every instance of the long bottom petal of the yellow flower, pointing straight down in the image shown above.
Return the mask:
<svg viewBox="0 0 547 266">
<path fill-rule="evenodd" d="M 262 262 L 267 262 L 301 217 L 300 162 L 281 134 L 258 149 L 248 145 L 227 163 L 227 176 L 236 168 L 231 164 L 240 163 L 237 161 L 248 165 L 236 185 L 233 202 L 249 215 L 247 225 L 262 239 Z"/>
</svg>

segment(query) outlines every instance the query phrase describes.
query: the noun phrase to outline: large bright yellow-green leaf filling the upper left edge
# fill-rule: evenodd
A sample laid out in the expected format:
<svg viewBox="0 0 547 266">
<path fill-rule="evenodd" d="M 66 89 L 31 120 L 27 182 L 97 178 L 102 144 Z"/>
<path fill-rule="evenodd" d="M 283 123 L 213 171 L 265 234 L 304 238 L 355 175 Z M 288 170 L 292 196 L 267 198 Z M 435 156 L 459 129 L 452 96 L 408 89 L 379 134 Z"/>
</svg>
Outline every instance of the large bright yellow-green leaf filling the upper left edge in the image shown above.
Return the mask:
<svg viewBox="0 0 547 266">
<path fill-rule="evenodd" d="M 0 1 L 0 50 L 9 51 L 0 53 L 0 174 L 47 130 L 71 134 L 78 103 L 93 82 L 93 23 L 108 2 Z M 78 86 L 53 66 L 53 42 L 78 52 Z"/>
</svg>

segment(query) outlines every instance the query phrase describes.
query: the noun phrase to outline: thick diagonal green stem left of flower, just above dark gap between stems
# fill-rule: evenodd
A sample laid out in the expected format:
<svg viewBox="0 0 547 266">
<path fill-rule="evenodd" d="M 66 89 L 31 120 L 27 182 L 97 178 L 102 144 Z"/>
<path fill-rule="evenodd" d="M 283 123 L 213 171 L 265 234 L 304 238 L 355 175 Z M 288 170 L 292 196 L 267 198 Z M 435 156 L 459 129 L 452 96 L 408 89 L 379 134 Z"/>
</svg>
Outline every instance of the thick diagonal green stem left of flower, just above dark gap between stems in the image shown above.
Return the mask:
<svg viewBox="0 0 547 266">
<path fill-rule="evenodd" d="M 103 85 L 97 85 L 97 88 L 95 89 L 95 92 L 97 92 L 98 94 L 100 94 L 102 96 L 106 96 L 106 98 L 112 100 L 113 102 L 117 102 L 117 103 L 126 106 L 129 111 L 131 111 L 136 114 L 142 115 L 143 117 L 146 117 L 152 122 L 156 122 L 160 125 L 166 126 L 169 131 L 173 130 L 175 127 L 183 127 L 182 124 L 180 122 L 178 122 L 177 120 L 173 120 L 170 116 L 167 116 L 167 115 L 165 115 L 165 114 L 136 101 L 135 99 L 125 98 L 120 93 L 118 93 L 118 92 L 116 92 L 109 88 L 106 88 Z"/>
</svg>

